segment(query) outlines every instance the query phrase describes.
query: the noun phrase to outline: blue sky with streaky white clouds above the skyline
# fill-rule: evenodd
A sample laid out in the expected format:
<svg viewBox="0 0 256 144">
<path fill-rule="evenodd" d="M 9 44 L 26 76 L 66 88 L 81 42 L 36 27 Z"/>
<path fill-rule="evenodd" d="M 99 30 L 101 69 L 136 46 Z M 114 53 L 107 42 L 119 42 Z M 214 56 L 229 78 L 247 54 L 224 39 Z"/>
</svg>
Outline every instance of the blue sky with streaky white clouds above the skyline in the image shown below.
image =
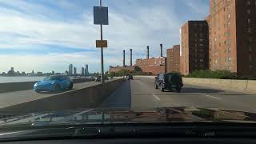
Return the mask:
<svg viewBox="0 0 256 144">
<path fill-rule="evenodd" d="M 0 0 L 0 72 L 10 70 L 64 73 L 69 64 L 89 65 L 99 72 L 100 27 L 94 25 L 93 6 L 98 0 Z M 188 20 L 209 14 L 208 0 L 102 0 L 109 7 L 109 25 L 103 26 L 104 69 L 126 65 L 137 58 L 159 57 L 160 46 L 179 44 L 179 29 Z"/>
</svg>

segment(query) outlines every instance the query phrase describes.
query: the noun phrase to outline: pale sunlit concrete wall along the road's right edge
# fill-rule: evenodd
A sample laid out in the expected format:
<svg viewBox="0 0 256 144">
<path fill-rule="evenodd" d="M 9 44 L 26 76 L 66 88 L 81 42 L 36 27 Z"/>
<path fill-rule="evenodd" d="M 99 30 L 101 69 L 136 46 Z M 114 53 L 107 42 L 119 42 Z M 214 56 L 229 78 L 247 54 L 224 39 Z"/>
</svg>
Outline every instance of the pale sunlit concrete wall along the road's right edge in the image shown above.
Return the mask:
<svg viewBox="0 0 256 144">
<path fill-rule="evenodd" d="M 154 78 L 155 76 L 137 76 L 143 78 Z M 233 90 L 256 94 L 255 80 L 238 80 L 238 79 L 214 79 L 214 78 L 182 78 L 184 84 L 194 86 L 204 86 L 218 90 Z"/>
</svg>

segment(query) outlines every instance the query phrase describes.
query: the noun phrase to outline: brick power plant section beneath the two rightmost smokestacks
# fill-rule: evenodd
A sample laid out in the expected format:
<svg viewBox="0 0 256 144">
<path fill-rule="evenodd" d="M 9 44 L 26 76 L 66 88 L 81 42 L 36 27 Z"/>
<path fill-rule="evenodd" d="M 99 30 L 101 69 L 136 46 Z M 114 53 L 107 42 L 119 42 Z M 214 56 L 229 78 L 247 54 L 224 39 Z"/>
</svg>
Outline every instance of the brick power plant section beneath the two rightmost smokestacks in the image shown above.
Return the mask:
<svg viewBox="0 0 256 144">
<path fill-rule="evenodd" d="M 146 74 L 159 74 L 166 72 L 166 58 L 146 58 L 137 59 L 135 66 L 140 67 L 142 73 Z"/>
</svg>

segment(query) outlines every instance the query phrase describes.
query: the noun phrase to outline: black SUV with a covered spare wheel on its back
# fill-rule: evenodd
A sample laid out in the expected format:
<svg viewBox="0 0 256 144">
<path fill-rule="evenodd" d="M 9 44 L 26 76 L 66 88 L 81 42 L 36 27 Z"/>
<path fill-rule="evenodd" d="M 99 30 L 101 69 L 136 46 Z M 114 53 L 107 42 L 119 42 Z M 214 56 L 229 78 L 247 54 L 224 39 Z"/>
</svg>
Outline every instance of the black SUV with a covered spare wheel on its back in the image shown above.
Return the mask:
<svg viewBox="0 0 256 144">
<path fill-rule="evenodd" d="M 180 92 L 183 87 L 182 76 L 175 73 L 158 74 L 158 76 L 155 77 L 154 87 L 156 89 L 159 87 L 161 91 L 172 91 L 172 89 L 175 88 Z"/>
</svg>

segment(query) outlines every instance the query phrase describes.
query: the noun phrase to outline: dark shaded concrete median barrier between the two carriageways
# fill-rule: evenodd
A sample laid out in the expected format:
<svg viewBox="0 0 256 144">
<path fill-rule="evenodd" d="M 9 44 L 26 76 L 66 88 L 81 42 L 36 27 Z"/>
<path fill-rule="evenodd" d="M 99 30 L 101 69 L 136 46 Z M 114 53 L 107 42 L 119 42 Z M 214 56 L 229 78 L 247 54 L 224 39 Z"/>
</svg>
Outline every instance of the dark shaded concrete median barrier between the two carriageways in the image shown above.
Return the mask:
<svg viewBox="0 0 256 144">
<path fill-rule="evenodd" d="M 18 110 L 19 114 L 26 114 L 53 110 L 94 108 L 100 105 L 107 96 L 118 88 L 118 86 L 121 86 L 122 82 L 125 82 L 125 79 L 122 78 L 106 82 L 104 85 L 98 84 L 79 90 L 55 94 L 51 97 L 2 108 L 0 113 L 14 113 Z"/>
</svg>

